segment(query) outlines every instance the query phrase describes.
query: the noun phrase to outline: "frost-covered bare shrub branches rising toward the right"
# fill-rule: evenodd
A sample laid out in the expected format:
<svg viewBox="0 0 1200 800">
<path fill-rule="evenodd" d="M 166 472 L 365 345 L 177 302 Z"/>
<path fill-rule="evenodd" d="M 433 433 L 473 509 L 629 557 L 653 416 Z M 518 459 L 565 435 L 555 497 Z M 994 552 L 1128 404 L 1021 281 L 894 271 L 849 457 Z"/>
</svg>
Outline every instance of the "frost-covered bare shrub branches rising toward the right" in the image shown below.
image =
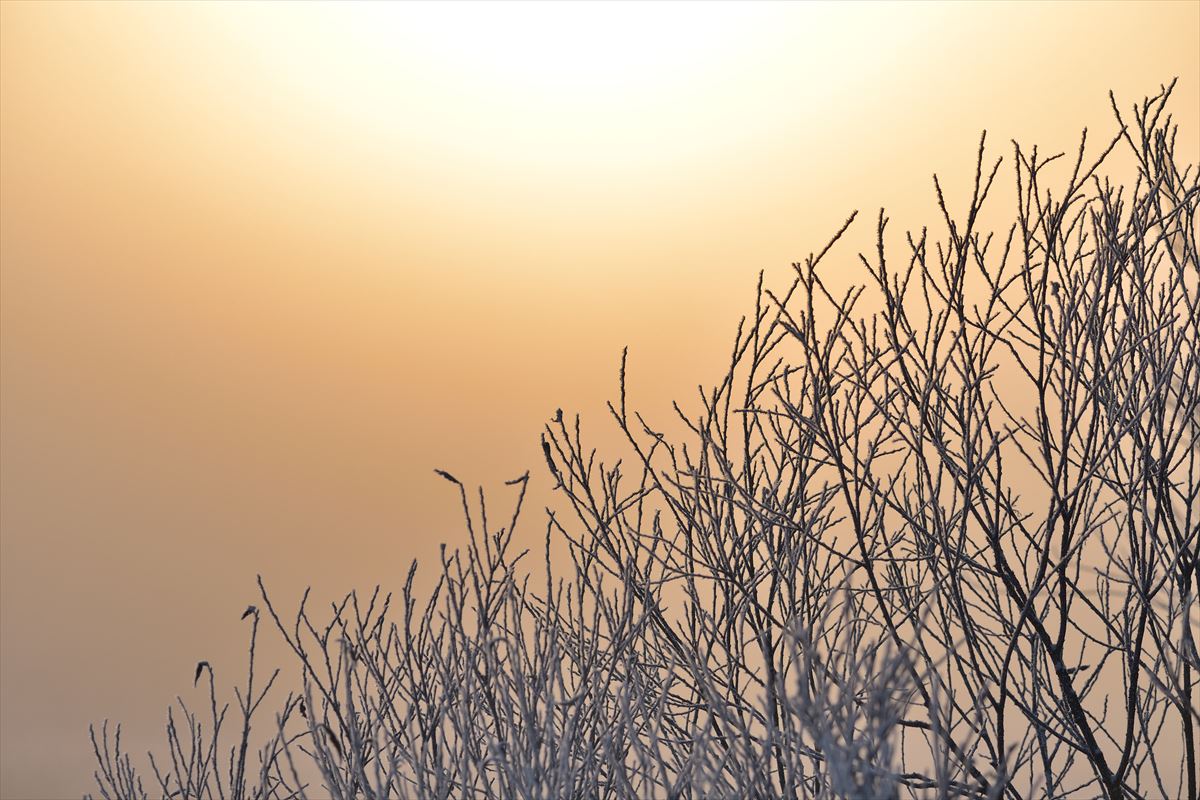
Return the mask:
<svg viewBox="0 0 1200 800">
<path fill-rule="evenodd" d="M 1014 143 L 998 234 L 982 139 L 962 213 L 935 178 L 940 237 L 896 252 L 880 213 L 866 285 L 822 277 L 853 216 L 760 276 L 678 435 L 623 361 L 624 461 L 577 416 L 542 434 L 570 512 L 544 571 L 512 543 L 528 474 L 497 527 L 439 471 L 469 541 L 425 600 L 415 564 L 323 614 L 259 581 L 234 711 L 198 667 L 152 777 L 94 729 L 98 795 L 1195 799 L 1200 184 L 1170 94 L 1054 168 Z M 1132 188 L 1098 175 L 1117 149 Z M 301 673 L 265 706 L 260 624 Z"/>
</svg>

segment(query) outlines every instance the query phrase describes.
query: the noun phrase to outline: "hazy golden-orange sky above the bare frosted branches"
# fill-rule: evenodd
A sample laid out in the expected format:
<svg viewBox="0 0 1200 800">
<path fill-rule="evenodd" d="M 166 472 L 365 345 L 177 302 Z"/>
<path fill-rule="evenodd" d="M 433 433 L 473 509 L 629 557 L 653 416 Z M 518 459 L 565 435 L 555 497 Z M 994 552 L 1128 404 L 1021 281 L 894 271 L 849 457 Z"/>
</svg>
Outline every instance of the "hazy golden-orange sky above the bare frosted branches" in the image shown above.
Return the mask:
<svg viewBox="0 0 1200 800">
<path fill-rule="evenodd" d="M 1073 150 L 1181 78 L 1200 4 L 0 4 L 0 794 L 157 746 L 197 660 L 398 587 L 452 487 L 719 374 L 755 275 L 937 221 L 979 131 Z M 1006 176 L 1010 173 L 1002 173 Z M 1006 184 L 1010 178 L 1006 178 Z M 500 487 L 503 488 L 503 487 Z M 534 515 L 527 536 L 540 537 Z"/>
</svg>

